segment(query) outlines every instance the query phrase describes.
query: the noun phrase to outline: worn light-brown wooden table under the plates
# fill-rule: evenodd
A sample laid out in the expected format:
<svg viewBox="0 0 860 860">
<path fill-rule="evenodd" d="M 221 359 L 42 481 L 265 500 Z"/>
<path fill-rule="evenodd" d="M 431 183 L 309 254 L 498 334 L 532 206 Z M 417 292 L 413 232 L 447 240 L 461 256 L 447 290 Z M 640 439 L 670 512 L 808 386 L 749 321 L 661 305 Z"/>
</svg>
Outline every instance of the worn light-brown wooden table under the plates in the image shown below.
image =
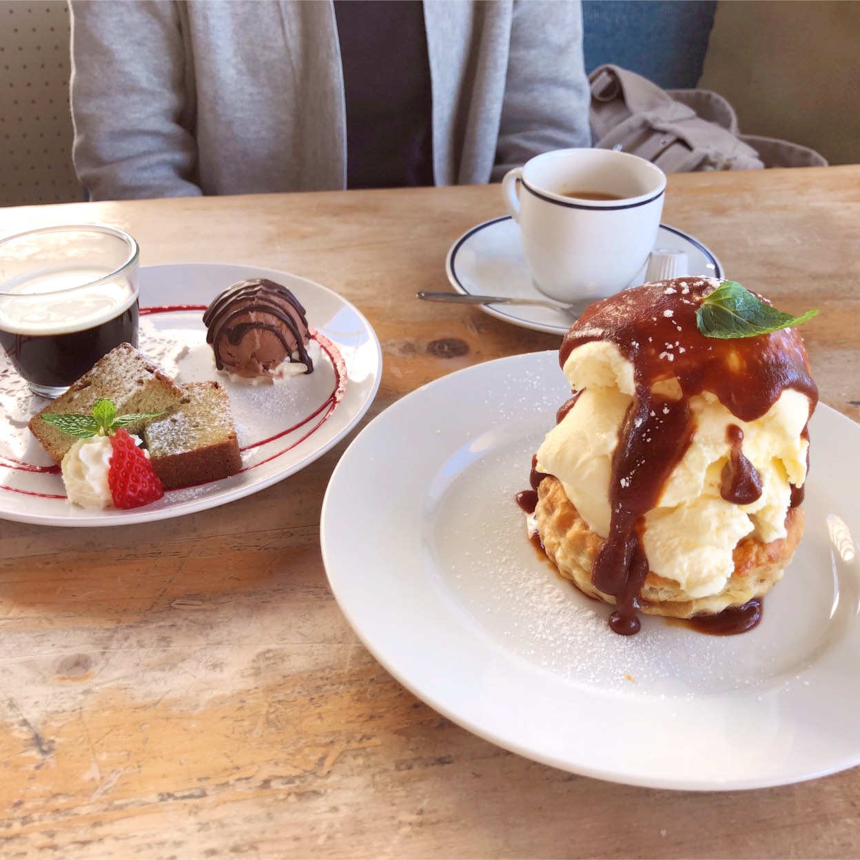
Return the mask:
<svg viewBox="0 0 860 860">
<path fill-rule="evenodd" d="M 498 187 L 144 200 L 0 209 L 0 234 L 101 222 L 137 237 L 144 265 L 246 263 L 331 287 L 384 349 L 367 421 L 445 373 L 557 347 L 414 298 L 446 289 L 453 240 L 501 211 Z M 803 334 L 821 400 L 860 419 L 860 166 L 674 175 L 664 221 L 783 310 L 820 308 Z M 630 788 L 507 753 L 405 691 L 322 568 L 322 495 L 346 444 L 180 519 L 0 521 L 0 855 L 860 855 L 860 770 Z"/>
</svg>

